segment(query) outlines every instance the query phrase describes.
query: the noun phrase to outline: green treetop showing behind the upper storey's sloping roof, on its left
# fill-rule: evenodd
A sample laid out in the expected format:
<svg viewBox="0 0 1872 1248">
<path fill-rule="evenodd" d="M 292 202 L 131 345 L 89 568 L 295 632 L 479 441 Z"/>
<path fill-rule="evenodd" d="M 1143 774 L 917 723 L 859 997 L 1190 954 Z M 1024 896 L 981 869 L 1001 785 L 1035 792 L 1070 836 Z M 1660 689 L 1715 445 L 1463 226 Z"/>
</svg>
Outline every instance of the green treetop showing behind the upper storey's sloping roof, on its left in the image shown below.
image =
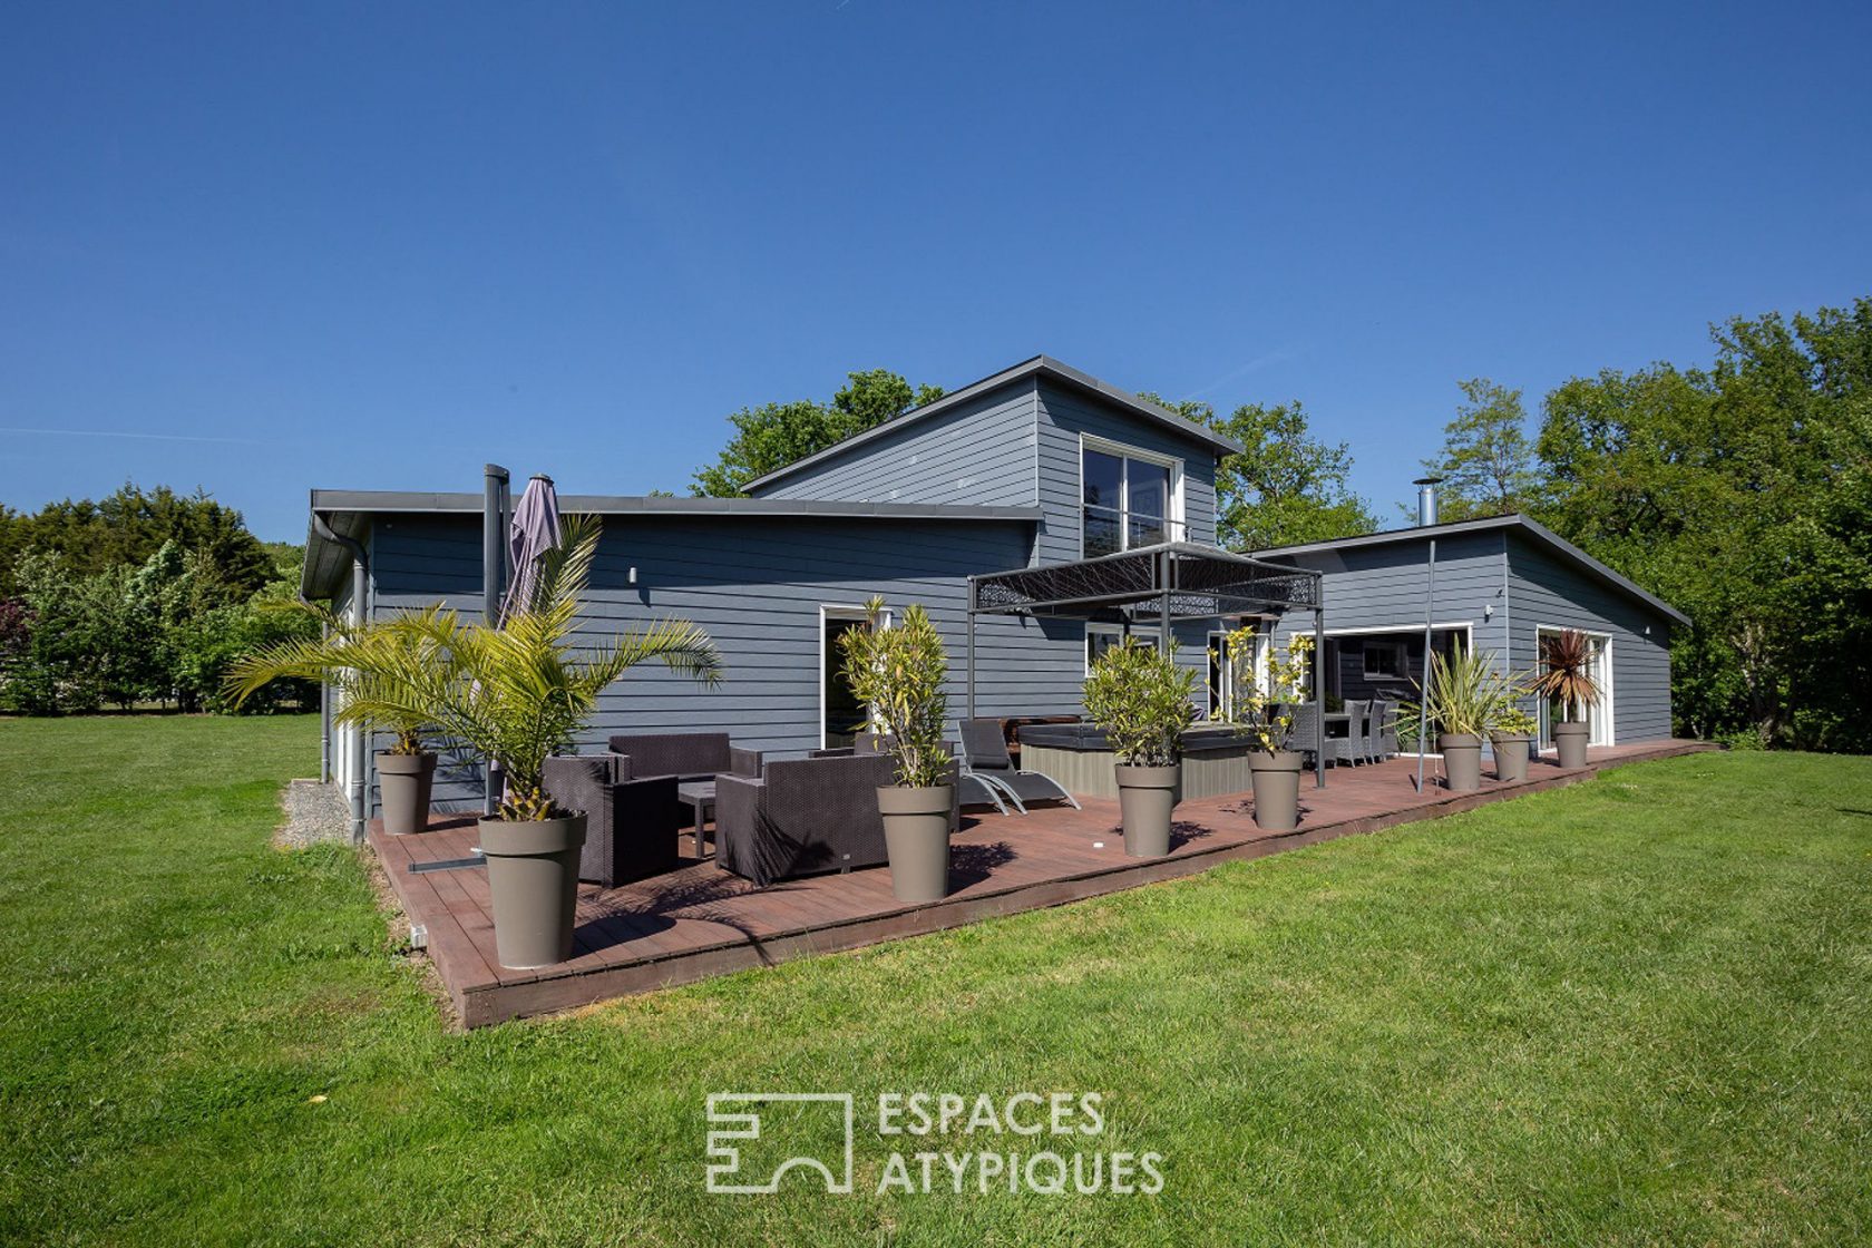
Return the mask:
<svg viewBox="0 0 1872 1248">
<path fill-rule="evenodd" d="M 796 399 L 741 408 L 728 417 L 734 436 L 713 464 L 696 470 L 689 492 L 739 498 L 747 483 L 816 455 L 912 408 L 942 399 L 940 385 L 912 387 L 889 369 L 848 372 L 831 402 Z"/>
</svg>

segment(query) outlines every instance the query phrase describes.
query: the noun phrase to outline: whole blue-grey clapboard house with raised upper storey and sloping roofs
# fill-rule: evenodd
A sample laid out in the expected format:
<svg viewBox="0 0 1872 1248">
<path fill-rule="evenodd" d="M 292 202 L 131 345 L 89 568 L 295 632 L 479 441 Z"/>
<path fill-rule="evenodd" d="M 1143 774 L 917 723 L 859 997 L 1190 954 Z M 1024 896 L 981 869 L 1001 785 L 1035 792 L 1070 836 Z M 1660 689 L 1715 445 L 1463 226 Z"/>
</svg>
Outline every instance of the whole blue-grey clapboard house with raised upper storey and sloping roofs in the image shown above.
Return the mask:
<svg viewBox="0 0 1872 1248">
<path fill-rule="evenodd" d="M 605 520 L 588 595 L 593 634 L 685 617 L 709 632 L 728 670 L 715 690 L 663 668 L 633 672 L 605 698 L 592 739 L 711 730 L 769 754 L 846 739 L 861 707 L 837 675 L 837 638 L 863 625 L 872 595 L 895 610 L 929 608 L 949 644 L 955 713 L 973 698 L 987 717 L 1075 715 L 1088 662 L 1125 632 L 1159 638 L 1163 619 L 1174 619 L 1179 662 L 1206 672 L 1198 687 L 1213 704 L 1226 681 L 1211 644 L 1243 614 L 1172 617 L 1166 593 L 1161 614 L 975 616 L 970 578 L 1172 546 L 1202 559 L 1215 543 L 1217 460 L 1239 449 L 1039 356 L 769 473 L 751 498 L 562 496 L 563 511 Z M 359 617 L 434 601 L 483 610 L 485 494 L 313 490 L 311 511 L 307 597 Z M 1400 681 L 1423 662 L 1432 537 L 1441 638 L 1528 666 L 1541 629 L 1587 629 L 1604 638 L 1616 687 L 1599 737 L 1670 735 L 1668 632 L 1683 616 L 1518 518 L 1264 552 L 1320 573 L 1329 690 L 1408 689 Z M 1314 627 L 1310 608 L 1305 621 L 1252 616 L 1271 638 Z M 369 788 L 361 743 L 328 732 L 328 748 L 341 780 Z M 479 803 L 479 775 L 438 776 L 436 799 Z"/>
</svg>

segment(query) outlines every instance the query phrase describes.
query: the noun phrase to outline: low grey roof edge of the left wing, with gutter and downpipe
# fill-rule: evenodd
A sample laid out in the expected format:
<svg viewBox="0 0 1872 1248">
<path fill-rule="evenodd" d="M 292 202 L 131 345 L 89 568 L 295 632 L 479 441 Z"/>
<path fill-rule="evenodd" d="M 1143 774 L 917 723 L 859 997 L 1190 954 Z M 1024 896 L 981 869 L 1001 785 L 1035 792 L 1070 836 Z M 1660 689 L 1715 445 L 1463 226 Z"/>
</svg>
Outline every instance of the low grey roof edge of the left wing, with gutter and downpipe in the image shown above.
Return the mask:
<svg viewBox="0 0 1872 1248">
<path fill-rule="evenodd" d="M 313 516 L 341 537 L 361 539 L 374 515 L 481 515 L 481 494 L 417 490 L 313 490 Z M 964 507 L 953 503 L 846 503 L 805 498 L 661 498 L 636 494 L 560 494 L 562 513 L 601 516 L 676 516 L 687 520 L 799 516 L 848 520 L 1039 522 L 1039 507 Z M 300 591 L 329 595 L 350 556 L 341 543 L 311 526 Z"/>
</svg>

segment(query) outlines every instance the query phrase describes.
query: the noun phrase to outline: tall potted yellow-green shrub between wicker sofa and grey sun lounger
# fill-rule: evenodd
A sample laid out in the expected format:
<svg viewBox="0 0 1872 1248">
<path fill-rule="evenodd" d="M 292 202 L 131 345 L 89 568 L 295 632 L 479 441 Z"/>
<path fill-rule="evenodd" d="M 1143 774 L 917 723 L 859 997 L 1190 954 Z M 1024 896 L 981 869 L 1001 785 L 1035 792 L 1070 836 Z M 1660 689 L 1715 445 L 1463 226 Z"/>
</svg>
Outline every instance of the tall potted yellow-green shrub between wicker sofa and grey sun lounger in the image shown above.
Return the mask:
<svg viewBox="0 0 1872 1248">
<path fill-rule="evenodd" d="M 949 894 L 949 812 L 955 784 L 943 743 L 949 659 L 942 634 L 921 604 L 884 627 L 884 599 L 869 602 L 870 627 L 846 629 L 844 679 L 870 709 L 872 732 L 895 763 L 895 784 L 878 790 L 884 849 L 891 861 L 891 896 L 938 902 Z"/>
</svg>

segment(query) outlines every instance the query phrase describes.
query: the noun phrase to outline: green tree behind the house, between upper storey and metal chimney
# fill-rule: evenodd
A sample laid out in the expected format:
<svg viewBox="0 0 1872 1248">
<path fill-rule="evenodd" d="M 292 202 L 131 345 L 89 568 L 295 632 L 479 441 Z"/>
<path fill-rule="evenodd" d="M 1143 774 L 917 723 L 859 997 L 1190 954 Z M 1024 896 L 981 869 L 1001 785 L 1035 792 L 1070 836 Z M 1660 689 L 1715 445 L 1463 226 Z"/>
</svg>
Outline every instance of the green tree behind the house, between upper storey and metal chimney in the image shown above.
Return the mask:
<svg viewBox="0 0 1872 1248">
<path fill-rule="evenodd" d="M 1378 528 L 1378 516 L 1348 486 L 1352 451 L 1344 442 L 1314 440 L 1299 400 L 1271 408 L 1249 402 L 1222 417 L 1206 402 L 1142 397 L 1243 445 L 1215 466 L 1217 544 L 1252 552 Z"/>
</svg>

